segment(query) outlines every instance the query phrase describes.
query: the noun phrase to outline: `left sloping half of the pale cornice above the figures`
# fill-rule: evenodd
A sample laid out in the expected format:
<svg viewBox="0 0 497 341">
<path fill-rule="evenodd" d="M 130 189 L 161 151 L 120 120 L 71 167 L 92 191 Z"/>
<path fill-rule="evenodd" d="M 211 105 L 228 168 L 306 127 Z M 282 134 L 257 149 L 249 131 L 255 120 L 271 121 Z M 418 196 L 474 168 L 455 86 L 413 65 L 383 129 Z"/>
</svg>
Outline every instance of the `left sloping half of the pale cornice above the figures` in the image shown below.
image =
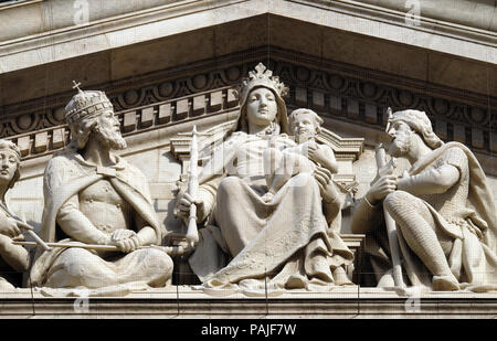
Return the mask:
<svg viewBox="0 0 497 341">
<path fill-rule="evenodd" d="M 215 25 L 218 23 L 212 21 L 215 18 L 212 15 L 213 11 L 246 1 L 248 0 L 175 1 L 161 7 L 3 41 L 0 42 L 0 73 Z M 253 14 L 260 13 L 261 10 L 254 10 Z M 231 20 L 244 17 L 235 14 Z M 138 29 L 140 34 L 134 34 Z"/>
</svg>

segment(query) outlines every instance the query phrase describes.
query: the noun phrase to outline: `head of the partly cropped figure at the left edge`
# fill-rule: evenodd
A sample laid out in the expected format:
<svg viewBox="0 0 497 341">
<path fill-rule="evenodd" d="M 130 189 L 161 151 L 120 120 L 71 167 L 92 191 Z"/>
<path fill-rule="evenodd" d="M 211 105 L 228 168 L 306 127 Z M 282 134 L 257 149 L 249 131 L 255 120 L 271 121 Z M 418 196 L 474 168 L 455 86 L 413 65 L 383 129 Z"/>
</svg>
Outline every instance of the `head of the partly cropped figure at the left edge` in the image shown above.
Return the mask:
<svg viewBox="0 0 497 341">
<path fill-rule="evenodd" d="M 12 188 L 21 177 L 21 150 L 12 141 L 0 139 L 0 183 Z"/>
</svg>

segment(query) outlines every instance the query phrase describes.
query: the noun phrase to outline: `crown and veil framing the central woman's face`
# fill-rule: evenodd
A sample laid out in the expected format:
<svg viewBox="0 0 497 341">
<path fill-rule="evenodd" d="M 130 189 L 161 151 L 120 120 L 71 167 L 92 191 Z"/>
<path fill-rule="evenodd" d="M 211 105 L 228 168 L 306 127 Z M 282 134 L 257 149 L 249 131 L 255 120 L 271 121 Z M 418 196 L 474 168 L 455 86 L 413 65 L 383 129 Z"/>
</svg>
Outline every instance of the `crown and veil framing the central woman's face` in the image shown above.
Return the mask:
<svg viewBox="0 0 497 341">
<path fill-rule="evenodd" d="M 240 118 L 236 124 L 236 130 L 242 130 L 247 132 L 247 102 L 253 92 L 264 92 L 263 89 L 268 89 L 273 94 L 274 100 L 276 102 L 277 113 L 275 115 L 274 121 L 268 125 L 266 131 L 267 134 L 288 134 L 288 119 L 286 114 L 286 105 L 283 97 L 288 93 L 288 88 L 279 82 L 277 76 L 273 76 L 273 72 L 267 70 L 262 63 L 255 66 L 255 71 L 248 72 L 248 78 L 242 81 L 242 84 L 236 89 L 240 102 Z M 263 94 L 257 94 L 257 96 Z M 269 131 L 271 130 L 271 131 Z"/>
</svg>

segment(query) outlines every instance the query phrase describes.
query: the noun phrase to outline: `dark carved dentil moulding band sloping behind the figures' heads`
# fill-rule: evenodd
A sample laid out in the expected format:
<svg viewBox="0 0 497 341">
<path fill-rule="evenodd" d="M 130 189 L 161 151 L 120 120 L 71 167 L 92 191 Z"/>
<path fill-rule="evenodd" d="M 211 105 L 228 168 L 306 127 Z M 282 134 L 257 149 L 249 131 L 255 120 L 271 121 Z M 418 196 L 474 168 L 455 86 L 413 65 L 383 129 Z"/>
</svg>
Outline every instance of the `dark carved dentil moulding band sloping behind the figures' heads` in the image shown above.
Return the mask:
<svg viewBox="0 0 497 341">
<path fill-rule="evenodd" d="M 212 61 L 178 66 L 150 75 L 101 84 L 116 111 L 126 111 L 123 131 L 154 127 L 186 117 L 235 108 L 231 87 L 260 60 L 267 58 L 267 46 Z M 220 66 L 224 65 L 224 66 Z M 356 125 L 382 129 L 384 110 L 425 110 L 443 140 L 458 140 L 474 151 L 497 151 L 497 98 L 469 94 L 421 81 L 392 76 L 350 64 L 316 58 L 278 47 L 271 49 L 269 67 L 289 86 L 288 109 L 309 107 L 319 115 Z M 192 74 L 191 70 L 195 73 Z M 14 139 L 63 124 L 63 108 L 72 92 L 9 105 L 0 135 Z M 188 99 L 188 100 L 184 100 Z M 40 108 L 44 108 L 40 110 Z M 134 114 L 135 111 L 135 114 Z M 49 137 L 50 137 L 49 132 Z"/>
</svg>

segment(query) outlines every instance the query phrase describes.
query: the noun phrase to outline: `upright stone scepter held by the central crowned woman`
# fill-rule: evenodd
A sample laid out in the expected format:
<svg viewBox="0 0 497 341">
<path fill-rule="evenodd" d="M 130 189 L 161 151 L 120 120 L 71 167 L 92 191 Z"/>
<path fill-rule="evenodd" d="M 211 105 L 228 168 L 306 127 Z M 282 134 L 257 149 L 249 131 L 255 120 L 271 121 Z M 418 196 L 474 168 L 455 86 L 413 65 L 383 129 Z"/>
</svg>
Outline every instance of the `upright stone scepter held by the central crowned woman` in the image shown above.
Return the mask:
<svg viewBox="0 0 497 341">
<path fill-rule="evenodd" d="M 199 173 L 198 173 L 198 162 L 199 162 L 199 146 L 197 142 L 198 136 L 211 136 L 212 134 L 202 134 L 197 131 L 197 126 L 193 126 L 191 132 L 178 132 L 180 136 L 191 136 L 190 146 L 190 172 L 188 175 L 188 190 L 187 193 L 191 199 L 197 196 L 197 191 L 199 189 Z M 199 231 L 197 228 L 197 205 L 191 203 L 190 215 L 187 219 L 187 242 L 189 245 L 193 246 L 199 242 Z"/>
</svg>

